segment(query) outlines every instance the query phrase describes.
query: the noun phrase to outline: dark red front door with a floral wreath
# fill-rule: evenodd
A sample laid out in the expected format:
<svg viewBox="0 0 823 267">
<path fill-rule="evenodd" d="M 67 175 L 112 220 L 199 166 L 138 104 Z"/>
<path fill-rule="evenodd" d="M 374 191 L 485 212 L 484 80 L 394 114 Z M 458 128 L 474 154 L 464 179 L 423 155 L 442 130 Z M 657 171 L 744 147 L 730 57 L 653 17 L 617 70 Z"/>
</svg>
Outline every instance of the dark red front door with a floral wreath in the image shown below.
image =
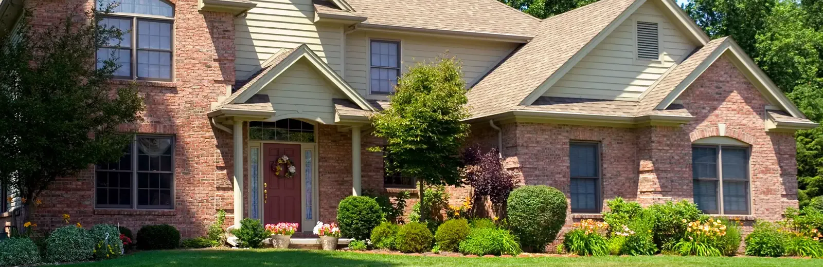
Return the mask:
<svg viewBox="0 0 823 267">
<path fill-rule="evenodd" d="M 300 223 L 300 145 L 264 144 L 263 151 L 263 223 Z M 277 158 L 284 154 L 297 169 L 293 177 L 286 177 L 286 164 L 281 164 L 283 170 L 275 175 Z"/>
</svg>

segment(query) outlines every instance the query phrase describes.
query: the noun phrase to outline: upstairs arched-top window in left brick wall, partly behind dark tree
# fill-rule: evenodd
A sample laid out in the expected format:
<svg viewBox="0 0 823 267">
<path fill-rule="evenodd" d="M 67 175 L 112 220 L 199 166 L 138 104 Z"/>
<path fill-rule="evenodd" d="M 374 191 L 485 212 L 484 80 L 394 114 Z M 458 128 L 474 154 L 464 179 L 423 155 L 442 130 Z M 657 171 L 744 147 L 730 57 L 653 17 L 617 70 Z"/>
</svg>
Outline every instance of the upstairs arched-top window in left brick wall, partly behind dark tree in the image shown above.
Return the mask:
<svg viewBox="0 0 823 267">
<path fill-rule="evenodd" d="M 123 40 L 110 39 L 97 48 L 97 67 L 114 58 L 119 64 L 114 77 L 171 81 L 174 7 L 164 0 L 100 0 L 98 5 L 119 4 L 100 20 L 105 28 L 123 32 Z"/>
</svg>

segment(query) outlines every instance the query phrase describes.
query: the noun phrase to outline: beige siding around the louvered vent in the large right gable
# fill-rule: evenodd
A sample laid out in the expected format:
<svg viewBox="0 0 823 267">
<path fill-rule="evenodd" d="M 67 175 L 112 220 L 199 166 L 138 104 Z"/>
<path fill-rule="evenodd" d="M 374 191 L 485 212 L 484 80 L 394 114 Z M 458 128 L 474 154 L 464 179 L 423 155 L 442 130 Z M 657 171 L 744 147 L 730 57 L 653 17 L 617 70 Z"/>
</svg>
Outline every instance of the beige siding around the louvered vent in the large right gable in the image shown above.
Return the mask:
<svg viewBox="0 0 823 267">
<path fill-rule="evenodd" d="M 636 21 L 660 25 L 662 60 L 637 58 Z M 686 39 L 653 2 L 646 2 L 543 95 L 637 100 L 649 85 L 694 49 L 695 44 Z"/>
</svg>

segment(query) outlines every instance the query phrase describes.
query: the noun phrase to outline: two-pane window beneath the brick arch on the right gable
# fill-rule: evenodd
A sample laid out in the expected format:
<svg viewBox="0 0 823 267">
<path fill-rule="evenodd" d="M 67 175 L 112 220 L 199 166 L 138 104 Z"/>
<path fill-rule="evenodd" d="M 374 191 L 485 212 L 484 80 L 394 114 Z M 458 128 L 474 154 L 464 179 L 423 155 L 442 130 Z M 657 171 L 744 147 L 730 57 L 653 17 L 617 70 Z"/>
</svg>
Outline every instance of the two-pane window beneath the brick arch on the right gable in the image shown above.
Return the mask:
<svg viewBox="0 0 823 267">
<path fill-rule="evenodd" d="M 749 149 L 727 145 L 691 148 L 694 197 L 707 214 L 749 214 Z"/>
</svg>

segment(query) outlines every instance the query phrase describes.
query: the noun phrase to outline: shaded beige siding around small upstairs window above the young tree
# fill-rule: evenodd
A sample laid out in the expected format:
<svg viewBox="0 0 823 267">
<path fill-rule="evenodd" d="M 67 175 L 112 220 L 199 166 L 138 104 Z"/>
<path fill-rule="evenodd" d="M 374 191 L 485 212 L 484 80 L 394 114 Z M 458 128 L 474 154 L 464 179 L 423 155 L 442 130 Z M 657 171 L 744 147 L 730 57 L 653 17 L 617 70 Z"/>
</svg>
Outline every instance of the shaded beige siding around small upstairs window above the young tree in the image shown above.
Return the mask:
<svg viewBox="0 0 823 267">
<path fill-rule="evenodd" d="M 406 72 L 416 62 L 431 61 L 448 51 L 450 56 L 463 62 L 463 74 L 467 83 L 485 74 L 517 47 L 517 44 L 504 42 L 358 30 L 346 35 L 346 81 L 361 95 L 367 95 L 369 90 L 370 39 L 400 41 L 402 72 Z"/>
</svg>

